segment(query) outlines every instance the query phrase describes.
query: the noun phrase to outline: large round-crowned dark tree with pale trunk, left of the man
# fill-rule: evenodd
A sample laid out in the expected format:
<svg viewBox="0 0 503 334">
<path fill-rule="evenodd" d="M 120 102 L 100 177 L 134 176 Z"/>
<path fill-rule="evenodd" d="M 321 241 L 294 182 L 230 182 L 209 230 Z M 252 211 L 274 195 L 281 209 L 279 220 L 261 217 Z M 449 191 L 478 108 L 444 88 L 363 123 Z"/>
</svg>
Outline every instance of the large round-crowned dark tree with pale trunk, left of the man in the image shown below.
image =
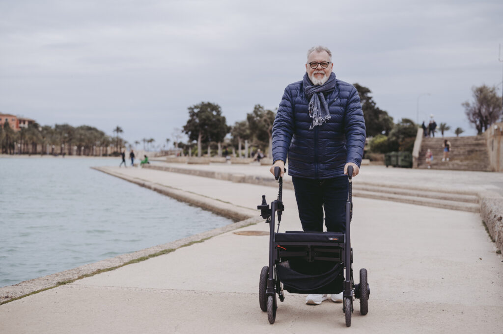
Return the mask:
<svg viewBox="0 0 503 334">
<path fill-rule="evenodd" d="M 189 120 L 184 125 L 184 132 L 190 141 L 197 140 L 198 157 L 202 154 L 202 143 L 222 142 L 230 127 L 225 123 L 218 104 L 201 102 L 189 106 Z"/>
</svg>

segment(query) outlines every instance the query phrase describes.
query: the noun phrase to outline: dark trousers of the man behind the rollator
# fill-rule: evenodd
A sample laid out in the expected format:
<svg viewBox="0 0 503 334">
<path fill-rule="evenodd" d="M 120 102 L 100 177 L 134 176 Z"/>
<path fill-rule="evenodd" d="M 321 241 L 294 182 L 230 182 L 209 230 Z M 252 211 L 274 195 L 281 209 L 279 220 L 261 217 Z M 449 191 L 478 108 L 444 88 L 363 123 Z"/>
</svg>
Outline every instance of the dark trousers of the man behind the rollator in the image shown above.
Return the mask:
<svg viewBox="0 0 503 334">
<path fill-rule="evenodd" d="M 323 232 L 323 209 L 328 232 L 346 233 L 348 177 L 313 180 L 292 177 L 302 230 Z"/>
</svg>

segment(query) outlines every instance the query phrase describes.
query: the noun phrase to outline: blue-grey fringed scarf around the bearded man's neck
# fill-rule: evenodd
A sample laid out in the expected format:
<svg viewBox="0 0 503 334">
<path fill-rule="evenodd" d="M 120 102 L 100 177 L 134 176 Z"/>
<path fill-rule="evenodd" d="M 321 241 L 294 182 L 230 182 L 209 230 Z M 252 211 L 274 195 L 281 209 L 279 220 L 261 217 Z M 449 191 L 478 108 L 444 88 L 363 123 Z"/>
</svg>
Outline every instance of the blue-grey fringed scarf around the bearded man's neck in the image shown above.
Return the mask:
<svg viewBox="0 0 503 334">
<path fill-rule="evenodd" d="M 328 80 L 322 85 L 313 85 L 309 76 L 304 74 L 302 80 L 304 87 L 304 94 L 309 100 L 309 117 L 313 119 L 309 130 L 312 130 L 317 125 L 322 125 L 326 120 L 330 119 L 330 112 L 328 111 L 328 104 L 326 104 L 324 92 L 329 92 L 336 87 L 336 75 L 330 73 Z"/>
</svg>

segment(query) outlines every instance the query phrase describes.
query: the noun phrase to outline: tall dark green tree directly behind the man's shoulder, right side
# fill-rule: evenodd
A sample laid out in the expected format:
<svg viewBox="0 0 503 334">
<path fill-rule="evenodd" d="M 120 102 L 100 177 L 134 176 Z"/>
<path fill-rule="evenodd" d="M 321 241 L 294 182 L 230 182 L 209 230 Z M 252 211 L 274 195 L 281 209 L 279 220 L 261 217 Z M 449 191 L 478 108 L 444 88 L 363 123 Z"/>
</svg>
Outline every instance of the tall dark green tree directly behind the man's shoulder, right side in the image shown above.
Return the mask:
<svg viewBox="0 0 503 334">
<path fill-rule="evenodd" d="M 372 91 L 369 88 L 361 86 L 358 83 L 353 85 L 358 90 L 358 95 L 360 95 L 367 137 L 373 137 L 378 134 L 385 134 L 387 136 L 391 129 L 393 129 L 393 118 L 376 106 L 376 102 L 374 102 L 370 95 Z"/>
</svg>

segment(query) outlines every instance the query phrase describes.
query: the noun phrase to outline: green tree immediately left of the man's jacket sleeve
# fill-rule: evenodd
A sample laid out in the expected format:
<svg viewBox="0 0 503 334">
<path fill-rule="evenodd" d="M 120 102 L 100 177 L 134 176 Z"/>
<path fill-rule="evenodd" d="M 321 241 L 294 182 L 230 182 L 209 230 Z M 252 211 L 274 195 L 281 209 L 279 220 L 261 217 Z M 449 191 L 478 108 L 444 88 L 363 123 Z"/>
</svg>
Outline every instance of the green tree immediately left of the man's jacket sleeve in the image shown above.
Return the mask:
<svg viewBox="0 0 503 334">
<path fill-rule="evenodd" d="M 273 147 L 273 123 L 276 113 L 265 109 L 262 105 L 256 104 L 253 112 L 246 114 L 246 120 L 250 130 L 250 136 L 259 142 L 267 143 L 269 157 L 272 157 Z"/>
</svg>

